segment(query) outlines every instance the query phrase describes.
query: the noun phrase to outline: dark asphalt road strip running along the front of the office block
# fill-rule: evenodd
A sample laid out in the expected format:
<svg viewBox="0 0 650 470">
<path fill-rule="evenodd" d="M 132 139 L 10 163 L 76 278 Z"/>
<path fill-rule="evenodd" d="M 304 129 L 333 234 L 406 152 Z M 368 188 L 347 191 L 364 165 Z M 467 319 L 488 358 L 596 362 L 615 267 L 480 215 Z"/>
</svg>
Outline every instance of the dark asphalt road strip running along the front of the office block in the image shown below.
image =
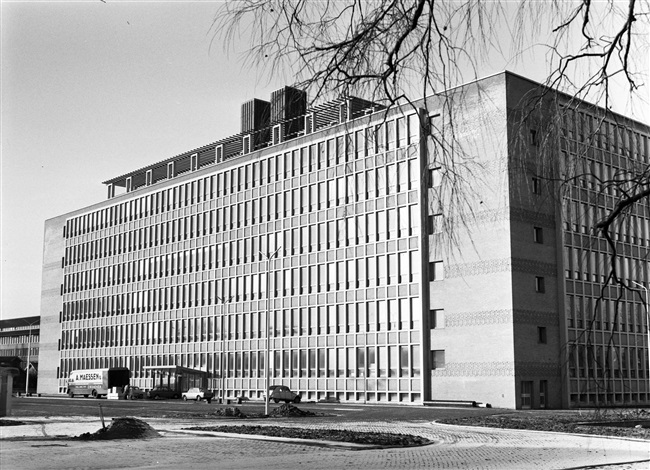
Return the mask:
<svg viewBox="0 0 650 470">
<path fill-rule="evenodd" d="M 106 400 L 93 398 L 62 397 L 14 397 L 13 417 L 20 416 L 99 416 L 101 406 L 106 417 L 141 416 L 150 418 L 204 417 L 218 408 L 236 406 L 244 414 L 263 414 L 264 402 L 244 402 L 240 405 L 221 405 L 182 400 Z M 271 410 L 282 404 L 269 404 Z M 431 408 L 425 406 L 359 405 L 339 403 L 309 403 L 297 405 L 301 410 L 323 413 L 333 418 L 350 421 L 400 420 L 434 421 L 442 418 L 458 418 L 483 414 L 510 413 L 511 410 L 487 408 Z M 324 417 L 323 419 L 327 419 Z"/>
</svg>

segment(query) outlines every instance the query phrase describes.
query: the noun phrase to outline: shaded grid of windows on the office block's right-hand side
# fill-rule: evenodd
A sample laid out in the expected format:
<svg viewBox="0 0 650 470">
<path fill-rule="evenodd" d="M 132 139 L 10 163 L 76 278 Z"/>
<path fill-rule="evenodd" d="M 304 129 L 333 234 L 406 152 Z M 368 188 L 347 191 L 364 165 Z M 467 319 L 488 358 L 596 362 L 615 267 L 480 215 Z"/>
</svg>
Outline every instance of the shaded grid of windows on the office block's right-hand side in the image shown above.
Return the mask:
<svg viewBox="0 0 650 470">
<path fill-rule="evenodd" d="M 643 300 L 635 292 L 602 288 L 611 255 L 589 227 L 615 206 L 617 190 L 607 181 L 650 161 L 648 137 L 571 111 L 566 113 L 563 135 L 565 176 L 576 176 L 562 213 L 570 401 L 574 406 L 643 403 L 650 399 Z M 619 247 L 618 276 L 647 286 L 647 260 L 638 247 L 650 246 L 650 207 L 634 206 L 612 234 Z M 603 298 L 598 299 L 601 293 Z M 607 380 L 625 385 L 614 391 L 605 386 Z"/>
</svg>

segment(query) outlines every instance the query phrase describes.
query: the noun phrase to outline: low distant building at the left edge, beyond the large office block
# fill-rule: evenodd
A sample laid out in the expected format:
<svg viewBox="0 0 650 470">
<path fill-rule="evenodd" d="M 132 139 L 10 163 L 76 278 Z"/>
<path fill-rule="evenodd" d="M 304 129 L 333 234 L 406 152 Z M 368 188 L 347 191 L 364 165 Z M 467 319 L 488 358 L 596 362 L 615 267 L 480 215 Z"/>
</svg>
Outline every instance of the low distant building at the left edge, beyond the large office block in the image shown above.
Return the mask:
<svg viewBox="0 0 650 470">
<path fill-rule="evenodd" d="M 15 392 L 36 391 L 40 320 L 37 316 L 0 320 L 0 356 L 18 357 L 21 361 L 20 375 L 13 382 Z"/>
</svg>

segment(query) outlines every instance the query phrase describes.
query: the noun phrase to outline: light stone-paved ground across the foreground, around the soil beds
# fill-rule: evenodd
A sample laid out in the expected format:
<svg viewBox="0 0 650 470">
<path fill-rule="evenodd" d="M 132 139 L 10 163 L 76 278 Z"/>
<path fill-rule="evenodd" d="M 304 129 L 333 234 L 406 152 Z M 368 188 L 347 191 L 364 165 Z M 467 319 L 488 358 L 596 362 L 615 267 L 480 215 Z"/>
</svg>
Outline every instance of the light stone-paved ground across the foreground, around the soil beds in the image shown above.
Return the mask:
<svg viewBox="0 0 650 470">
<path fill-rule="evenodd" d="M 145 419 L 161 439 L 71 441 L 61 436 L 97 431 L 96 418 L 16 418 L 30 423 L 0 427 L 3 469 L 64 468 L 218 468 L 309 469 L 647 469 L 648 441 L 505 429 L 467 428 L 433 423 L 301 423 L 297 420 Z M 107 425 L 109 422 L 107 421 Z M 350 450 L 313 442 L 249 436 L 217 437 L 187 433 L 189 426 L 215 424 L 346 428 L 414 434 L 435 443 L 407 449 Z M 646 460 L 644 463 L 640 461 Z M 630 463 L 637 462 L 637 463 Z M 608 467 L 605 467 L 609 465 Z M 612 466 L 614 465 L 614 466 Z"/>
</svg>

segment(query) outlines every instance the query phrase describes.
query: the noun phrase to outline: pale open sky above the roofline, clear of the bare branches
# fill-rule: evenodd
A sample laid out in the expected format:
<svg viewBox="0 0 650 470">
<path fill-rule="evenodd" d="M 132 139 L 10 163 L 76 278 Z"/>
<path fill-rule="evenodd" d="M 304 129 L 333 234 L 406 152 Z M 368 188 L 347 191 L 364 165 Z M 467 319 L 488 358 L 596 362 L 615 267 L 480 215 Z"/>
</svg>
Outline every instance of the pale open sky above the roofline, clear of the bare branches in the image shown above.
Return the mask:
<svg viewBox="0 0 650 470">
<path fill-rule="evenodd" d="M 1 4 L 2 318 L 38 315 L 46 219 L 101 184 L 236 134 L 241 103 L 284 85 L 212 44 L 218 2 Z M 541 80 L 537 60 L 491 61 Z"/>
</svg>

